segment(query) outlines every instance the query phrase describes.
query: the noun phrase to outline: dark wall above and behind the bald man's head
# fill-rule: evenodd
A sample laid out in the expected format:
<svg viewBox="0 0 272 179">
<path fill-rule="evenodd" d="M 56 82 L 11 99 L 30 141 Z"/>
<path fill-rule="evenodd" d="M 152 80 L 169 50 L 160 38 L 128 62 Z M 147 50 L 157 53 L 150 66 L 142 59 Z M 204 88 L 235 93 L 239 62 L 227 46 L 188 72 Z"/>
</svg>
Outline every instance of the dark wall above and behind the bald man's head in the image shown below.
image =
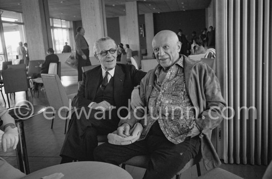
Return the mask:
<svg viewBox="0 0 272 179">
<path fill-rule="evenodd" d="M 206 27 L 205 9 L 186 10 L 176 12 L 154 13 L 154 34 L 162 30 L 171 30 L 178 32 L 190 39 L 191 32 L 195 31 L 198 36 L 201 29 Z"/>
</svg>

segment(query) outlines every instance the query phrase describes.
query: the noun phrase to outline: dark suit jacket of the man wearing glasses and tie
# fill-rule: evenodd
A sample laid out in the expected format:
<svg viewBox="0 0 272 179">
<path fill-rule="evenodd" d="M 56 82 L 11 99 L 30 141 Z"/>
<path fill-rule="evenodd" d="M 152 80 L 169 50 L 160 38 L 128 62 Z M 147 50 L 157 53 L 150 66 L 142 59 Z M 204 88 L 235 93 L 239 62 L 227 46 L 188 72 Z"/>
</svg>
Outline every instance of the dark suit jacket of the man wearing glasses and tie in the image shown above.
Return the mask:
<svg viewBox="0 0 272 179">
<path fill-rule="evenodd" d="M 140 84 L 145 74 L 146 72 L 136 70 L 133 65 L 116 64 L 113 76 L 113 95 L 117 109 L 123 106 L 128 107 L 128 99 L 131 98 L 134 87 Z M 88 107 L 93 102 L 100 86 L 100 76 L 102 76 L 101 66 L 83 73 L 82 85 L 73 99 L 72 106 Z"/>
</svg>

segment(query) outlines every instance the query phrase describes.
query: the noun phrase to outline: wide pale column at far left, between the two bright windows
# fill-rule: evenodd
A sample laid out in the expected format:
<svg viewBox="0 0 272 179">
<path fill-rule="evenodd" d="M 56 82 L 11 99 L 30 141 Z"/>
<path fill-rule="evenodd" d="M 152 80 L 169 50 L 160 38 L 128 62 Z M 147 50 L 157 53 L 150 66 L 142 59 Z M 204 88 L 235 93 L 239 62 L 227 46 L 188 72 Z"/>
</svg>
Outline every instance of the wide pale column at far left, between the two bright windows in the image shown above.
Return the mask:
<svg viewBox="0 0 272 179">
<path fill-rule="evenodd" d="M 53 47 L 47 0 L 22 0 L 30 60 L 43 60 Z"/>
</svg>

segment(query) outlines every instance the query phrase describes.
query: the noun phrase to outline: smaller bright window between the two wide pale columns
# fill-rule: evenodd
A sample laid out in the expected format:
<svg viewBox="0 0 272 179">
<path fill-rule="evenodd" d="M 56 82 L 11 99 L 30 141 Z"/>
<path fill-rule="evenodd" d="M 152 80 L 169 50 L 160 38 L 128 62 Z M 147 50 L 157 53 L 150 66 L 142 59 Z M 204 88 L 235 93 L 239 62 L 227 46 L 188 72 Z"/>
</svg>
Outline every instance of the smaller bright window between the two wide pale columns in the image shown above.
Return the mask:
<svg viewBox="0 0 272 179">
<path fill-rule="evenodd" d="M 61 53 L 65 42 L 71 46 L 70 30 L 71 22 L 50 18 L 52 40 L 55 53 Z"/>
</svg>

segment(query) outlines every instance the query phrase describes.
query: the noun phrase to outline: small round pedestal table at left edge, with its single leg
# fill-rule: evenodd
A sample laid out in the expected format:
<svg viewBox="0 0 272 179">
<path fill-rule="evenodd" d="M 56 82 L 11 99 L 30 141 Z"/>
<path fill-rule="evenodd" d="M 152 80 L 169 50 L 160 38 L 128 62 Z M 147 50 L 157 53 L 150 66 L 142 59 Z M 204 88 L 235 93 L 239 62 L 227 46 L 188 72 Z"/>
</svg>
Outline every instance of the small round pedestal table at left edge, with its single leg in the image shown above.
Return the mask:
<svg viewBox="0 0 272 179">
<path fill-rule="evenodd" d="M 26 110 L 28 109 L 28 110 Z M 16 147 L 16 155 L 18 168 L 21 172 L 29 174 L 29 163 L 27 156 L 27 147 L 25 140 L 25 130 L 24 130 L 24 120 L 27 120 L 35 115 L 44 112 L 46 107 L 44 106 L 32 106 L 30 108 L 26 107 L 11 107 L 8 108 L 9 114 L 15 119 L 16 127 L 19 132 L 19 141 Z"/>
</svg>

